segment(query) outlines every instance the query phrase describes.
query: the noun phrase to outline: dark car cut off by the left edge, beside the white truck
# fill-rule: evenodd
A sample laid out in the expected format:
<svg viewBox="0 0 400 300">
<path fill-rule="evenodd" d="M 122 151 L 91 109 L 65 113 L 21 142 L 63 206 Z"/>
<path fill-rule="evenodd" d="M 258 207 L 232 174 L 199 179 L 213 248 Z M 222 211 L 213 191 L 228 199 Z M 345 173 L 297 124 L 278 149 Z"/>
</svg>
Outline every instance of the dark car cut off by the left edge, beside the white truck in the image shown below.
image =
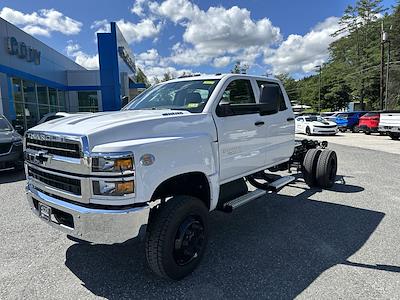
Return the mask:
<svg viewBox="0 0 400 300">
<path fill-rule="evenodd" d="M 0 171 L 24 168 L 22 136 L 0 115 Z"/>
</svg>

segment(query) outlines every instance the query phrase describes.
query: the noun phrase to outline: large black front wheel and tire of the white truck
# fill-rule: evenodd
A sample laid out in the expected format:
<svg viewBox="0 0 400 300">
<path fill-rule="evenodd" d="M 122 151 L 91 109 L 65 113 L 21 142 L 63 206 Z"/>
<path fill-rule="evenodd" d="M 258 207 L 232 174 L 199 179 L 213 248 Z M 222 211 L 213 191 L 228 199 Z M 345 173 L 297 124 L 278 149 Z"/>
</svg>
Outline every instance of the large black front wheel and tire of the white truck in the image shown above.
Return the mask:
<svg viewBox="0 0 400 300">
<path fill-rule="evenodd" d="M 151 213 L 147 263 L 158 276 L 180 280 L 200 263 L 207 237 L 208 209 L 204 203 L 194 197 L 176 196 Z"/>
</svg>

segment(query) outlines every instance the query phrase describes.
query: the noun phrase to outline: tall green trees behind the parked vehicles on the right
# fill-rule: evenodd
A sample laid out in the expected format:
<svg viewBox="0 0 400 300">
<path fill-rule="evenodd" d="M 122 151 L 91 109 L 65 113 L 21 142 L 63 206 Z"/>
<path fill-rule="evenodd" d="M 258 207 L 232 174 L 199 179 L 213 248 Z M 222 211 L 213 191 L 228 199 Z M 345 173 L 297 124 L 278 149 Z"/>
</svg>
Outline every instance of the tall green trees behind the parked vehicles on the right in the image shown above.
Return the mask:
<svg viewBox="0 0 400 300">
<path fill-rule="evenodd" d="M 400 2 L 392 14 L 378 18 L 385 12 L 381 2 L 358 0 L 346 8 L 339 22 L 341 29 L 334 34 L 340 38 L 330 45 L 330 60 L 322 67 L 321 87 L 319 74 L 297 81 L 288 74 L 278 76 L 292 101 L 318 110 L 321 88 L 322 110 L 339 110 L 351 101 L 359 101 L 366 109 L 379 109 L 383 22 L 391 40 L 388 108 L 400 108 Z"/>
</svg>

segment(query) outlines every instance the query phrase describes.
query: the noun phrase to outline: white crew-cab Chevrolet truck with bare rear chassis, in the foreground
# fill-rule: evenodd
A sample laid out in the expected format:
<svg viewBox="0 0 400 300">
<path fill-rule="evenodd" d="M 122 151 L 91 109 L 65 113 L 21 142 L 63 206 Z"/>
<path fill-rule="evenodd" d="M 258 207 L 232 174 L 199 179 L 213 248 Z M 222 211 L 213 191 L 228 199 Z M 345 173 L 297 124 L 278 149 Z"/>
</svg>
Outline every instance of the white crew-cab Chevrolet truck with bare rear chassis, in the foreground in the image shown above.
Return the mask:
<svg viewBox="0 0 400 300">
<path fill-rule="evenodd" d="M 337 158 L 326 146 L 295 141 L 290 101 L 276 79 L 181 78 L 122 111 L 30 129 L 27 197 L 38 217 L 76 240 L 145 235 L 150 268 L 178 280 L 204 254 L 211 211 L 231 212 L 296 179 L 273 172 L 297 167 L 310 186 L 331 187 Z"/>
</svg>

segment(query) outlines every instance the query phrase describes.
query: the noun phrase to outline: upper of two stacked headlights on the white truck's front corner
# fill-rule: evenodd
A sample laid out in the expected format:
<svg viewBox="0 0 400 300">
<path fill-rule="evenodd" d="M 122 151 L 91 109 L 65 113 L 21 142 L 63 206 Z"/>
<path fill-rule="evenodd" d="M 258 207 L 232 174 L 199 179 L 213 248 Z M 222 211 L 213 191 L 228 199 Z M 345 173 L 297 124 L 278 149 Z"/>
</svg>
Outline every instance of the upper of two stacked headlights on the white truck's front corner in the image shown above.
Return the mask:
<svg viewBox="0 0 400 300">
<path fill-rule="evenodd" d="M 125 172 L 134 171 L 133 155 L 127 153 L 98 154 L 92 157 L 93 172 Z"/>
</svg>

